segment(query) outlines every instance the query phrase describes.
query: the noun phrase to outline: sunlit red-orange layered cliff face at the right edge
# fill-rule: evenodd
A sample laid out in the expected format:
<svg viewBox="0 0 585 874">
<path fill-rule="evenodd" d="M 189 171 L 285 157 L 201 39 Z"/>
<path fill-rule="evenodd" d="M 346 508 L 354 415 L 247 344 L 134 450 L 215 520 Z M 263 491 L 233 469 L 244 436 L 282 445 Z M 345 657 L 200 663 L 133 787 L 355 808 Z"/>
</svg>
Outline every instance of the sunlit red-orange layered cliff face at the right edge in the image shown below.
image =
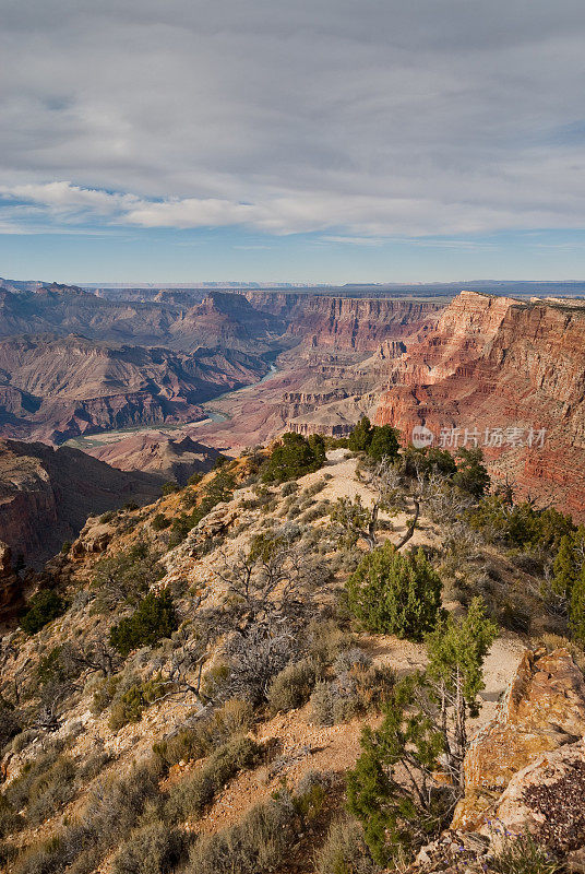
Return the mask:
<svg viewBox="0 0 585 874">
<path fill-rule="evenodd" d="M 408 440 L 441 428 L 520 427 L 523 446 L 483 447 L 492 470 L 521 494 L 551 500 L 577 518 L 585 508 L 585 307 L 520 304 L 462 293 L 437 328 L 407 344 L 375 421 Z M 529 429 L 542 446 L 526 446 Z M 489 442 L 488 438 L 488 442 Z M 452 448 L 452 447 L 449 447 Z"/>
</svg>

